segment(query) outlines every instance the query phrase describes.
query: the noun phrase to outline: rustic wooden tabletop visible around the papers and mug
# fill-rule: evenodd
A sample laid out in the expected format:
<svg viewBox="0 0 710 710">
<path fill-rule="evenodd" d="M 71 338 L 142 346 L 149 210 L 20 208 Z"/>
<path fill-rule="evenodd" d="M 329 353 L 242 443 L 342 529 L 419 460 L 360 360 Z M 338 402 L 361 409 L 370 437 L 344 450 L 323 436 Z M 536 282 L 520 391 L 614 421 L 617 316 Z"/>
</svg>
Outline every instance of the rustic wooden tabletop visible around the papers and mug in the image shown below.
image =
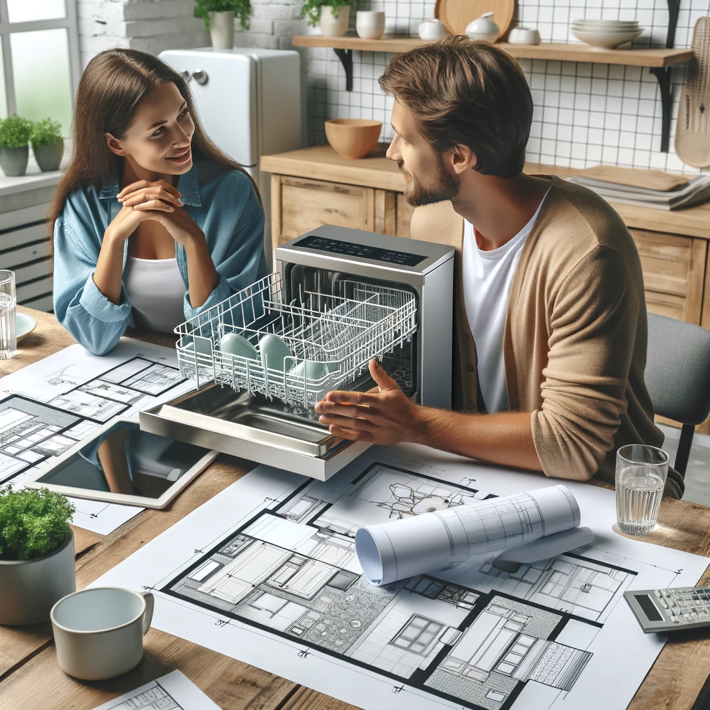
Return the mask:
<svg viewBox="0 0 710 710">
<path fill-rule="evenodd" d="M 21 342 L 16 358 L 0 365 L 0 376 L 58 351 L 74 341 L 53 315 L 20 307 L 38 322 Z M 170 338 L 145 338 L 171 345 Z M 165 510 L 144 510 L 102 536 L 74 528 L 77 589 L 87 586 L 121 560 L 170 528 L 253 467 L 220 456 Z M 710 508 L 664 499 L 660 529 L 649 541 L 710 555 Z M 707 582 L 709 570 L 702 581 Z M 131 672 L 104 682 L 82 682 L 57 665 L 49 624 L 0 626 L 0 708 L 2 710 L 90 710 L 173 670 L 182 671 L 224 710 L 349 710 L 297 683 L 151 629 L 143 661 Z M 631 710 L 690 710 L 710 674 L 710 637 L 686 632 L 672 636 L 630 704 Z M 603 682 L 603 679 L 599 679 Z M 384 709 L 383 709 L 384 710 Z"/>
</svg>

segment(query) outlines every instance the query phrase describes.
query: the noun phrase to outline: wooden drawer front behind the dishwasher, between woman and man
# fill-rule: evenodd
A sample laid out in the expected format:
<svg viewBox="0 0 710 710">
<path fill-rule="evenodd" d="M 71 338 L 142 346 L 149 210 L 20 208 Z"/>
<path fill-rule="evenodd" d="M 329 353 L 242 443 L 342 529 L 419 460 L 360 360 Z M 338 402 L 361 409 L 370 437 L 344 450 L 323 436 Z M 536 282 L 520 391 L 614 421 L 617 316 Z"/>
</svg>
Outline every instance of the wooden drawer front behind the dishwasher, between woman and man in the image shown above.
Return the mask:
<svg viewBox="0 0 710 710">
<path fill-rule="evenodd" d="M 271 188 L 273 246 L 323 224 L 373 231 L 371 187 L 275 175 Z"/>
</svg>

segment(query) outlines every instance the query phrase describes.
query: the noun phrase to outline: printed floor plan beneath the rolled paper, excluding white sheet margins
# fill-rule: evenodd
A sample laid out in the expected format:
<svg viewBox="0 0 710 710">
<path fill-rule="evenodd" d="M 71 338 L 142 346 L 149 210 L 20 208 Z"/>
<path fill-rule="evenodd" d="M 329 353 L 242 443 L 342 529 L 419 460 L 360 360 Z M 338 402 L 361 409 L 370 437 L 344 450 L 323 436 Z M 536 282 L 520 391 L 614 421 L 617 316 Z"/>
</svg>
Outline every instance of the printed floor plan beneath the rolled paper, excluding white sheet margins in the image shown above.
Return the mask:
<svg viewBox="0 0 710 710">
<path fill-rule="evenodd" d="M 634 572 L 562 555 L 498 576 L 488 561 L 476 589 L 373 586 L 359 567 L 358 528 L 495 497 L 473 482 L 378 463 L 307 482 L 161 591 L 471 709 L 505 710 L 530 683 L 569 692 L 593 654 L 557 638 L 594 636 Z"/>
</svg>

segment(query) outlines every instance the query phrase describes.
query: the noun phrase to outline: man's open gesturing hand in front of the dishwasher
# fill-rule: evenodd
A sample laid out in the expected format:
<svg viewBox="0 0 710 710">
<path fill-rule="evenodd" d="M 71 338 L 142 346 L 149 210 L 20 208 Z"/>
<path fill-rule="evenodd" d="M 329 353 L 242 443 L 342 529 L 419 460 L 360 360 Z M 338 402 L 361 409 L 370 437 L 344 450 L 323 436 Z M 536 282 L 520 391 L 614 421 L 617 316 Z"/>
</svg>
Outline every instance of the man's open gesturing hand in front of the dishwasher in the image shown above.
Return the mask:
<svg viewBox="0 0 710 710">
<path fill-rule="evenodd" d="M 327 393 L 315 405 L 320 423 L 343 439 L 373 444 L 416 441 L 421 408 L 405 396 L 376 360 L 370 361 L 370 374 L 379 392 Z"/>
</svg>

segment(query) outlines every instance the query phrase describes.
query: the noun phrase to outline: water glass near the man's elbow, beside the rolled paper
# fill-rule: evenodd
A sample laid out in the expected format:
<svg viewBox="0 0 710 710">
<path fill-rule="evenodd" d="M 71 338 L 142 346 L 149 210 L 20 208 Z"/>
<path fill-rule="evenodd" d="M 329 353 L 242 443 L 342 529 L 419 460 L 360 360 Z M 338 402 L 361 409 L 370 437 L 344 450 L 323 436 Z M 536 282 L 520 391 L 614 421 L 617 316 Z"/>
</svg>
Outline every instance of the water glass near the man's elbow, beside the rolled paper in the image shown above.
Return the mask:
<svg viewBox="0 0 710 710">
<path fill-rule="evenodd" d="M 658 518 L 668 454 L 645 444 L 616 452 L 616 524 L 628 535 L 648 535 Z"/>
</svg>

